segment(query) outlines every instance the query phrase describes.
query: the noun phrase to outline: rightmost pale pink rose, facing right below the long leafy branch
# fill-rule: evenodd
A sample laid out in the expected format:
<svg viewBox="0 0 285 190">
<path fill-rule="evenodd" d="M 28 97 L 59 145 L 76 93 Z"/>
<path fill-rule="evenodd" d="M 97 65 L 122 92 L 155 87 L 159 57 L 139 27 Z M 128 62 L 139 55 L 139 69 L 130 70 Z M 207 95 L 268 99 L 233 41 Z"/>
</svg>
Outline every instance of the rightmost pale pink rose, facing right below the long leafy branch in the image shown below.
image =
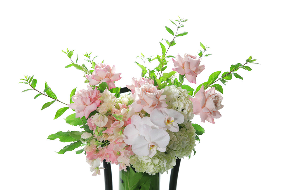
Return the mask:
<svg viewBox="0 0 285 190">
<path fill-rule="evenodd" d="M 220 118 L 221 113 L 218 111 L 224 106 L 221 104 L 223 97 L 215 92 L 215 87 L 205 92 L 204 85 L 196 93 L 194 98 L 190 98 L 193 102 L 194 114 L 200 115 L 201 122 L 205 120 L 215 123 L 214 118 Z"/>
</svg>

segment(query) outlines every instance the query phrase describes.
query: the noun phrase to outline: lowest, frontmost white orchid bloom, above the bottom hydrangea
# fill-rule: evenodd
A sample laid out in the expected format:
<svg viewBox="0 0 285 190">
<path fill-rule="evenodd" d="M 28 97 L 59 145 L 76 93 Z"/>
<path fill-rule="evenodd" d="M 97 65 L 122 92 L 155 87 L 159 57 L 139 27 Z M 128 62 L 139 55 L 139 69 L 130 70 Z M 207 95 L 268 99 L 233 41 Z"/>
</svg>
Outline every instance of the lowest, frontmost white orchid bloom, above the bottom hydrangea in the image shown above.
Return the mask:
<svg viewBox="0 0 285 190">
<path fill-rule="evenodd" d="M 132 150 L 138 156 L 149 156 L 152 158 L 156 151 L 165 152 L 169 143 L 169 134 L 162 129 L 152 129 L 150 126 L 143 124 L 132 145 Z"/>
</svg>

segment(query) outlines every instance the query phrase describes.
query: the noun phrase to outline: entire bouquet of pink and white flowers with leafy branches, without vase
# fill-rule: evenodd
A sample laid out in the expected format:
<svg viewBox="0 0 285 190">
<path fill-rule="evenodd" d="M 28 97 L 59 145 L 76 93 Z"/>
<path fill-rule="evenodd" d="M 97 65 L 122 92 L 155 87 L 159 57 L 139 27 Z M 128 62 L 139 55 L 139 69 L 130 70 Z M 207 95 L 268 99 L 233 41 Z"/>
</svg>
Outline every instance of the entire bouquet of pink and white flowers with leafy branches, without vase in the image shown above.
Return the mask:
<svg viewBox="0 0 285 190">
<path fill-rule="evenodd" d="M 127 171 L 132 167 L 135 172 L 150 175 L 167 172 L 176 165 L 176 160 L 191 156 L 196 142 L 200 142 L 200 135 L 204 129 L 199 124 L 191 122 L 194 115 L 199 115 L 201 122 L 215 123 L 214 119 L 221 117 L 219 112 L 222 105 L 223 87 L 216 82 L 226 84 L 234 77 L 243 79 L 236 71 L 244 69 L 251 71 L 247 64 L 256 64 L 251 56 L 244 64 L 231 65 L 229 71 L 215 71 L 208 81 L 198 85 L 196 89 L 186 83 L 197 83 L 197 75 L 205 70 L 201 64 L 202 57 L 209 47 L 200 43 L 202 50 L 198 56 L 184 54 L 184 56 L 167 55 L 170 47 L 176 45 L 176 38 L 187 35 L 188 32 L 178 33 L 187 19 L 171 21 L 176 27 L 173 32 L 165 26 L 172 36 L 171 40 L 159 42 L 161 54 L 146 58 L 141 53 L 137 56 L 141 63 L 135 62 L 141 69 L 141 77 L 133 77 L 126 85 L 129 93 L 120 95 L 122 89 L 116 87 L 115 81 L 121 79 L 121 73 L 116 73 L 115 65 L 95 62 L 91 60 L 91 53 L 86 53 L 85 64 L 72 61 L 74 51 L 62 50 L 71 60 L 66 68 L 75 67 L 84 73 L 87 89 L 71 91 L 68 104 L 59 101 L 56 94 L 45 83 L 45 89 L 36 89 L 37 80 L 26 75 L 21 83 L 28 84 L 40 95 L 48 96 L 53 101 L 45 103 L 45 109 L 58 101 L 66 105 L 56 112 L 57 119 L 68 109 L 75 113 L 65 118 L 66 123 L 79 126 L 76 131 L 56 132 L 48 139 L 59 139 L 61 142 L 72 142 L 62 148 L 58 154 L 75 149 L 76 154 L 86 154 L 87 163 L 93 176 L 100 175 L 102 162 L 119 165 L 119 170 Z M 156 64 L 154 69 L 149 65 Z M 172 71 L 166 72 L 166 68 Z M 222 74 L 221 74 L 222 73 Z M 23 91 L 23 92 L 24 92 Z M 81 149 L 79 148 L 81 147 Z M 104 161 L 105 160 L 105 161 Z"/>
</svg>

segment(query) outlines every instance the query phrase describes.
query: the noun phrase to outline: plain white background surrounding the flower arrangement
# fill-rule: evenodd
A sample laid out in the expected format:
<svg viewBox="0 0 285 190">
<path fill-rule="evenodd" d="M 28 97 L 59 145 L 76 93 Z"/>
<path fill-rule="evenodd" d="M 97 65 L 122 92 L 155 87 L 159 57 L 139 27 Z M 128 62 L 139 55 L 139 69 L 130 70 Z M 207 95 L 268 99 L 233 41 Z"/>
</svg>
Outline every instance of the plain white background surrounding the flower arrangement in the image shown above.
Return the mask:
<svg viewBox="0 0 285 190">
<path fill-rule="evenodd" d="M 159 41 L 171 40 L 165 25 L 177 15 L 189 19 L 168 55 L 196 54 L 200 42 L 210 46 L 197 85 L 214 71 L 249 56 L 261 65 L 244 77 L 223 85 L 222 117 L 205 128 L 196 155 L 181 162 L 177 189 L 284 189 L 284 3 L 282 1 L 3 1 L 1 2 L 1 185 L 4 189 L 103 189 L 103 175 L 93 177 L 84 154 L 59 151 L 67 145 L 47 140 L 57 131 L 78 130 L 63 117 L 53 120 L 61 103 L 40 96 L 25 84 L 23 75 L 44 82 L 59 100 L 68 102 L 75 87 L 86 89 L 83 74 L 70 64 L 69 48 L 85 63 L 91 52 L 95 62 L 116 66 L 124 87 L 139 77 L 136 56 L 161 54 Z M 201 64 L 202 64 L 201 63 Z M 171 62 L 169 67 L 172 68 Z M 152 65 L 154 68 L 154 65 Z M 188 84 L 188 83 L 186 83 Z M 118 166 L 113 166 L 114 189 Z M 170 173 L 170 172 L 169 172 Z M 103 172 L 102 172 L 103 174 Z M 161 177 L 168 189 L 169 174 Z"/>
</svg>

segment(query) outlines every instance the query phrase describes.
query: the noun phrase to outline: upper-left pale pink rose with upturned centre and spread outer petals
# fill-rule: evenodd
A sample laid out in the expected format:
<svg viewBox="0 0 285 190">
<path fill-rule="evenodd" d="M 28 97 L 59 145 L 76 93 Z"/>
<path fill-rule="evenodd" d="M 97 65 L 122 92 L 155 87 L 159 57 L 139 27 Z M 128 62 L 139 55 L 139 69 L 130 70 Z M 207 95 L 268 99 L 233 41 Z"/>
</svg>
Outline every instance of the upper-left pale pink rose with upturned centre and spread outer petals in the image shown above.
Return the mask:
<svg viewBox="0 0 285 190">
<path fill-rule="evenodd" d="M 121 73 L 115 73 L 115 66 L 111 68 L 109 65 L 97 63 L 92 74 L 86 75 L 86 77 L 89 80 L 89 85 L 106 82 L 111 89 L 116 87 L 114 81 L 121 79 L 120 75 Z"/>
</svg>

